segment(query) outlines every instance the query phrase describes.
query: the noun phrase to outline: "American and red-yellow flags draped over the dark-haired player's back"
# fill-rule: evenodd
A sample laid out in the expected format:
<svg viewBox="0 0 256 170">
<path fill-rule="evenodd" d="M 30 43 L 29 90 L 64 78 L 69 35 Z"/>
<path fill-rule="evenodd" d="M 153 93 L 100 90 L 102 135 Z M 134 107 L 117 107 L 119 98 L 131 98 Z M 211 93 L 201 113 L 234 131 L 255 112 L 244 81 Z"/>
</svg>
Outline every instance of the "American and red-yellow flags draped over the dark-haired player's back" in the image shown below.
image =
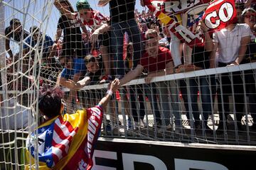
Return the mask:
<svg viewBox="0 0 256 170">
<path fill-rule="evenodd" d="M 78 110 L 48 120 L 26 142 L 28 169 L 91 169 L 92 154 L 102 123 L 102 108 Z M 30 167 L 29 167 L 30 166 Z"/>
</svg>

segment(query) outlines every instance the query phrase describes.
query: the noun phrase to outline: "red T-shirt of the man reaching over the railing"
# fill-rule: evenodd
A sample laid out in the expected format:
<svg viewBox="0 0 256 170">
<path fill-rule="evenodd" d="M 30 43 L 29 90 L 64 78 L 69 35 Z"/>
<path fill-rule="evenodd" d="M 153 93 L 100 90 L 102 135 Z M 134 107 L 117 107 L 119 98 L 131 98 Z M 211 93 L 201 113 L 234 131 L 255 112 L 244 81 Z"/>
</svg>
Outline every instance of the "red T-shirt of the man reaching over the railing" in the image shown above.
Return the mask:
<svg viewBox="0 0 256 170">
<path fill-rule="evenodd" d="M 148 71 L 148 73 L 154 71 L 164 70 L 166 64 L 171 62 L 171 51 L 168 48 L 159 46 L 159 53 L 156 58 L 149 57 L 149 54 L 146 52 L 140 60 L 140 64 Z"/>
</svg>

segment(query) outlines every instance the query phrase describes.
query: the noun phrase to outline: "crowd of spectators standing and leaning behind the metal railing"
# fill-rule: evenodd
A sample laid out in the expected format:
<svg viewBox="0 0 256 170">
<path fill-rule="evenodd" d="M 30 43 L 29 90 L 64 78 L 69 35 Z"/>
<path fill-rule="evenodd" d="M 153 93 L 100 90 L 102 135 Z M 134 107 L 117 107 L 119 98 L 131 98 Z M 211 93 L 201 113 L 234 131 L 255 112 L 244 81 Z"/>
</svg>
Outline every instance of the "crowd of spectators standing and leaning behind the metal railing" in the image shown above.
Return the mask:
<svg viewBox="0 0 256 170">
<path fill-rule="evenodd" d="M 255 4 L 250 2 L 251 4 L 249 1 L 237 2 L 237 23 L 231 23 L 220 31 L 213 33 L 203 21 L 198 21 L 193 31 L 201 32 L 203 43 L 200 46 L 189 47 L 180 43 L 177 47 L 171 42 L 175 37 L 168 26 L 164 26 L 150 10 L 139 12 L 134 9 L 135 0 L 99 1 L 101 6 L 110 4 L 109 17 L 93 10 L 86 0 L 79 0 L 75 4 L 78 12 L 68 0 L 55 0 L 55 6 L 61 14 L 55 38 L 47 35 L 43 38 L 36 26 L 31 26 L 30 30 L 26 31 L 21 22 L 14 18 L 6 28 L 6 51 L 9 53 L 9 62 L 15 62 L 18 57 L 14 57 L 9 40 L 25 40 L 26 43 L 21 48 L 23 51 L 18 53 L 18 56 L 28 58 L 28 62 L 23 63 L 22 72 L 29 75 L 28 66 L 36 55 L 33 47 L 42 46 L 39 48 L 43 53 L 40 62 L 42 69 L 55 68 L 52 73 L 41 72 L 42 83 L 50 82 L 70 89 L 67 100 L 70 113 L 73 112 L 77 90 L 85 85 L 106 83 L 113 78 L 118 78 L 120 84 L 124 85 L 130 80 L 144 78 L 144 85 L 121 87 L 119 90 L 121 98 L 126 98 L 126 105 L 130 102 L 132 106 L 127 126 L 129 129 L 146 127 L 148 122 L 144 121 L 144 103 L 149 99 L 154 115 L 153 127 L 162 130 L 173 129 L 176 133 L 181 133 L 181 92 L 191 128 L 203 128 L 209 133 L 213 132 L 213 129 L 208 127 L 208 117 L 213 115 L 216 96 L 220 117 L 217 131 L 223 133 L 223 130 L 227 130 L 231 95 L 234 100 L 235 129 L 243 131 L 245 128 L 242 127 L 241 119 L 247 97 L 250 115 L 256 122 L 255 70 L 223 73 L 218 78 L 205 75 L 159 83 L 151 83 L 151 80 L 156 76 L 174 73 L 254 63 L 256 11 Z M 186 59 L 183 57 L 183 46 L 191 51 L 186 54 Z M 53 73 L 56 74 L 50 76 Z M 99 93 L 96 91 L 86 95 L 95 99 L 92 105 L 96 105 L 97 98 L 100 99 L 95 95 Z M 198 92 L 202 115 L 198 108 Z M 256 123 L 252 124 L 251 129 L 256 130 Z"/>
</svg>

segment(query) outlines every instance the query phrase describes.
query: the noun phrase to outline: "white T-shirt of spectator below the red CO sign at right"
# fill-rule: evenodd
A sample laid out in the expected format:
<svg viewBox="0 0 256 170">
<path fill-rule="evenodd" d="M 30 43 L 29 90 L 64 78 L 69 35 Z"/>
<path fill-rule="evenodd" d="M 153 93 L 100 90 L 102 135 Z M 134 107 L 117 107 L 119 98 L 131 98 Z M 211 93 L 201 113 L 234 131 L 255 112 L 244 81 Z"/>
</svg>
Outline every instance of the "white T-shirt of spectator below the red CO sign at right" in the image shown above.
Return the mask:
<svg viewBox="0 0 256 170">
<path fill-rule="evenodd" d="M 250 36 L 250 27 L 246 23 L 237 24 L 232 31 L 226 28 L 213 33 L 213 42 L 218 43 L 218 62 L 232 63 L 238 58 L 241 39 Z"/>
</svg>

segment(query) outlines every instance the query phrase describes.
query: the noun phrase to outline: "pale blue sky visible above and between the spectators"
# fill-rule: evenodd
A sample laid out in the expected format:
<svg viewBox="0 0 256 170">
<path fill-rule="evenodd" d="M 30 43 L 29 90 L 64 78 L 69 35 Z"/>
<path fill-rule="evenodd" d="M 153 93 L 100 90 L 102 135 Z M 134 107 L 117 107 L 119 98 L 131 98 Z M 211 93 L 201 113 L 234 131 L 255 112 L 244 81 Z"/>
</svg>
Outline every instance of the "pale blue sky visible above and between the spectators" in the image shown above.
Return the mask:
<svg viewBox="0 0 256 170">
<path fill-rule="evenodd" d="M 53 1 L 53 0 L 40 0 L 40 1 L 35 1 L 35 0 L 4 0 L 7 4 L 10 6 L 14 6 L 15 9 L 6 6 L 5 7 L 5 23 L 6 26 L 9 26 L 9 21 L 11 18 L 18 18 L 23 22 L 24 28 L 29 30 L 31 26 L 38 26 L 40 25 L 40 21 L 43 20 L 42 16 L 42 11 L 43 11 L 43 6 L 46 6 L 46 1 Z M 75 3 L 77 0 L 70 0 L 70 3 L 73 5 L 73 8 L 75 9 Z M 109 11 L 109 6 L 105 7 L 98 7 L 97 6 L 97 0 L 88 0 L 90 3 L 90 6 L 92 9 L 96 9 L 100 11 L 102 14 L 105 14 L 106 16 L 110 16 L 110 11 Z M 120 0 L 122 1 L 122 0 Z M 15 2 L 15 3 L 14 3 Z M 25 8 L 24 8 L 25 6 Z M 29 7 L 27 7 L 29 6 Z M 26 15 L 26 18 L 24 18 L 24 15 L 21 14 L 26 13 L 26 10 L 28 9 L 28 15 Z M 144 8 L 140 6 L 139 0 L 136 0 L 136 9 L 138 11 L 142 11 Z M 35 16 L 35 18 L 33 18 Z M 58 18 L 60 17 L 59 11 L 53 6 L 51 12 L 50 12 L 50 19 L 48 24 L 46 24 L 46 21 L 44 21 L 43 28 L 47 25 L 46 33 L 50 37 L 54 37 L 56 28 L 57 28 L 57 23 L 58 23 Z"/>
</svg>

